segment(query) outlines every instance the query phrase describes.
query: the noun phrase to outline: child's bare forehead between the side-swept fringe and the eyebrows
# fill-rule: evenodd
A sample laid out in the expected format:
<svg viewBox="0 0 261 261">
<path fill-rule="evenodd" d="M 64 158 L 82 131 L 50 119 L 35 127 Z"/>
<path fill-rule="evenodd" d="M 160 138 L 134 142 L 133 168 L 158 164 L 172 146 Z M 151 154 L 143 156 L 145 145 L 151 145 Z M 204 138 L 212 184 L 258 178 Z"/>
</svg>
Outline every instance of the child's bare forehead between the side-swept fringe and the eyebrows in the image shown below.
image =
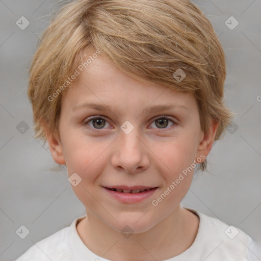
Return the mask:
<svg viewBox="0 0 261 261">
<path fill-rule="evenodd" d="M 63 97 L 63 105 L 73 110 L 81 108 L 86 103 L 92 103 L 92 108 L 118 107 L 134 110 L 150 111 L 173 107 L 176 110 L 191 110 L 195 105 L 192 94 L 172 90 L 154 83 L 142 83 L 114 66 L 101 55 L 93 59 L 80 75 L 75 84 L 68 88 Z M 100 106 L 99 106 L 100 105 Z"/>
</svg>

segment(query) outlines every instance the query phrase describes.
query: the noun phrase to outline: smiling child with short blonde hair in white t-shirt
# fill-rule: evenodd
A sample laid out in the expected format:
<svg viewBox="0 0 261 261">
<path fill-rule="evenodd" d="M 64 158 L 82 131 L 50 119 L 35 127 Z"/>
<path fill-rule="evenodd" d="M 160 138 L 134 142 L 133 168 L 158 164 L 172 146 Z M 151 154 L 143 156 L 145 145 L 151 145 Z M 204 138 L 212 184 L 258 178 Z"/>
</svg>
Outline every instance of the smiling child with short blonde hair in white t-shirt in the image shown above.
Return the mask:
<svg viewBox="0 0 261 261">
<path fill-rule="evenodd" d="M 180 205 L 233 115 L 225 67 L 189 0 L 66 4 L 28 94 L 36 137 L 66 165 L 86 215 L 17 260 L 253 260 L 247 234 Z"/>
</svg>

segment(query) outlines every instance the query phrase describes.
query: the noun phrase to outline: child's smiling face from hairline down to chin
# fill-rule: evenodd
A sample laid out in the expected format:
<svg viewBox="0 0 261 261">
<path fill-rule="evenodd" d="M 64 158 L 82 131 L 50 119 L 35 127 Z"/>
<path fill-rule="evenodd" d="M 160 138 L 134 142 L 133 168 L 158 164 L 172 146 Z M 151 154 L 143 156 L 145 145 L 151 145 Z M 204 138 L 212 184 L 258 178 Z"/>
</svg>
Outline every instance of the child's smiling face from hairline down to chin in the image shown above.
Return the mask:
<svg viewBox="0 0 261 261">
<path fill-rule="evenodd" d="M 59 131 L 56 144 L 48 139 L 54 160 L 81 180 L 72 189 L 87 215 L 118 231 L 146 231 L 168 217 L 192 181 L 193 171 L 182 173 L 211 142 L 192 94 L 138 82 L 101 55 L 66 90 Z M 121 186 L 155 189 L 142 200 L 106 189 Z"/>
</svg>

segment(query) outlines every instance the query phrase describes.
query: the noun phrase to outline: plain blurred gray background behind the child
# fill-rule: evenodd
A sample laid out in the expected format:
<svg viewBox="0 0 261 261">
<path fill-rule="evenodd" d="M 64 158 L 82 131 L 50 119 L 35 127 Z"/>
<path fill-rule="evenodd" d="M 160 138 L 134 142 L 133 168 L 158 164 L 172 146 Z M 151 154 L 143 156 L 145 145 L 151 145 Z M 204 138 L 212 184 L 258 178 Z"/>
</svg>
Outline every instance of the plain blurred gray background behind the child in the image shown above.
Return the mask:
<svg viewBox="0 0 261 261">
<path fill-rule="evenodd" d="M 33 138 L 32 110 L 26 94 L 26 68 L 55 2 L 0 1 L 0 260 L 16 259 L 34 243 L 85 215 L 66 170 L 50 171 L 56 163 L 47 145 L 43 147 Z M 182 205 L 233 224 L 260 243 L 261 1 L 195 3 L 211 20 L 225 49 L 225 100 L 237 116 L 208 156 L 211 174 L 195 176 Z M 30 21 L 24 30 L 16 25 L 21 16 Z M 239 21 L 233 30 L 225 24 L 230 16 Z M 30 127 L 23 134 L 18 125 L 24 124 L 21 121 Z M 16 234 L 21 225 L 30 230 L 25 239 Z M 255 254 L 261 260 L 261 254 Z"/>
</svg>

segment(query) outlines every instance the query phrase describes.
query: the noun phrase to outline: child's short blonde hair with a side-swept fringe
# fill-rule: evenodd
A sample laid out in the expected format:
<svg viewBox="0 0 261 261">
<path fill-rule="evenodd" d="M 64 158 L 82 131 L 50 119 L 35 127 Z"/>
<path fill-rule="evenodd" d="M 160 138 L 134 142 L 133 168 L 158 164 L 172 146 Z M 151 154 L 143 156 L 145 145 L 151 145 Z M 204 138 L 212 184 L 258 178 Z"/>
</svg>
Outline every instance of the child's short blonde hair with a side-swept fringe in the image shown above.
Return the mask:
<svg viewBox="0 0 261 261">
<path fill-rule="evenodd" d="M 193 93 L 202 131 L 211 120 L 219 122 L 215 140 L 221 139 L 233 115 L 223 100 L 225 54 L 211 22 L 189 0 L 79 0 L 63 6 L 43 32 L 30 68 L 35 138 L 45 143 L 46 132 L 59 138 L 65 91 L 54 93 L 67 88 L 90 48 L 143 83 Z M 182 81 L 173 77 L 177 69 L 186 73 Z M 205 167 L 206 161 L 200 164 Z"/>
</svg>

